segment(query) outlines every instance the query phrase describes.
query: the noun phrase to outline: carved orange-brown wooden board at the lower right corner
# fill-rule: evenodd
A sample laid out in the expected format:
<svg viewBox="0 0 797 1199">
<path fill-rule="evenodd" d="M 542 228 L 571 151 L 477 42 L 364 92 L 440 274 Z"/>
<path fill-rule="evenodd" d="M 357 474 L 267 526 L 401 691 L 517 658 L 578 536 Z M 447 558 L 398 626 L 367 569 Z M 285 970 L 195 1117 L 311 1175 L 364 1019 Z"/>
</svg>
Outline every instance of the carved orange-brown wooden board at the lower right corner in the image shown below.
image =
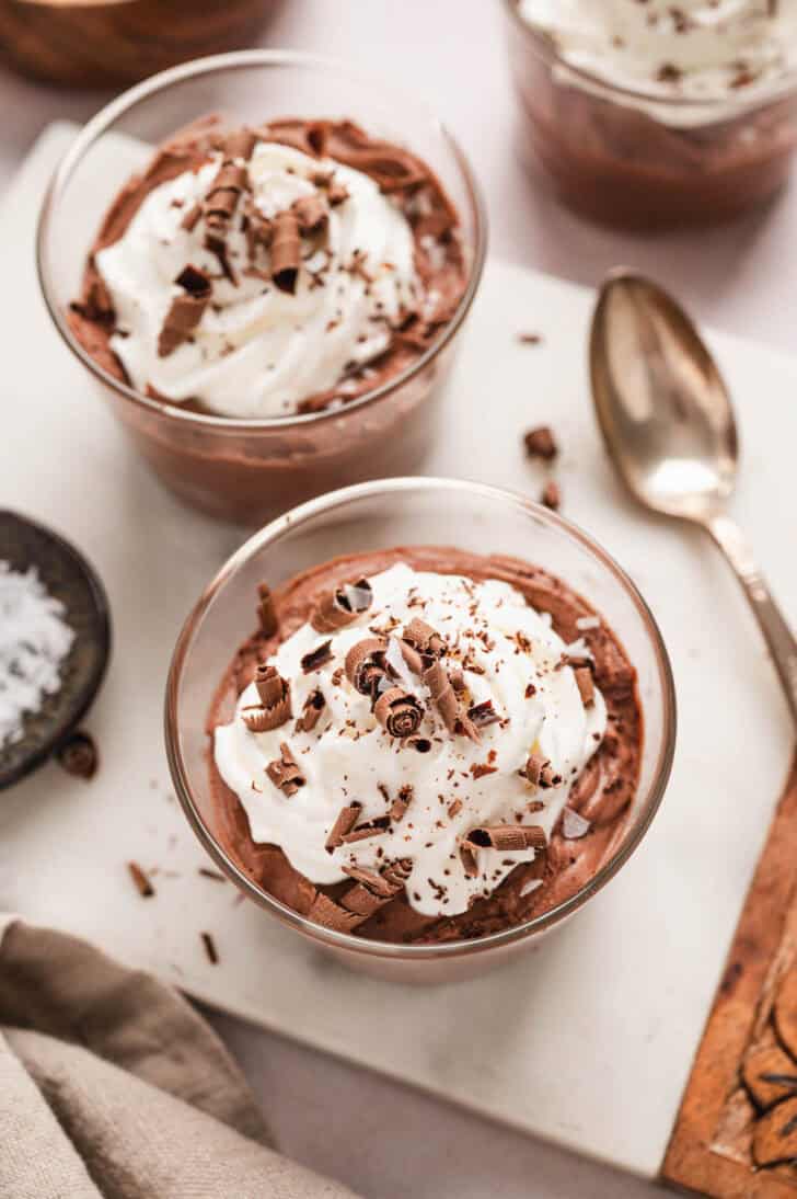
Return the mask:
<svg viewBox="0 0 797 1199">
<path fill-rule="evenodd" d="M 797 1199 L 797 759 L 742 910 L 662 1179 L 714 1199 Z"/>
</svg>

